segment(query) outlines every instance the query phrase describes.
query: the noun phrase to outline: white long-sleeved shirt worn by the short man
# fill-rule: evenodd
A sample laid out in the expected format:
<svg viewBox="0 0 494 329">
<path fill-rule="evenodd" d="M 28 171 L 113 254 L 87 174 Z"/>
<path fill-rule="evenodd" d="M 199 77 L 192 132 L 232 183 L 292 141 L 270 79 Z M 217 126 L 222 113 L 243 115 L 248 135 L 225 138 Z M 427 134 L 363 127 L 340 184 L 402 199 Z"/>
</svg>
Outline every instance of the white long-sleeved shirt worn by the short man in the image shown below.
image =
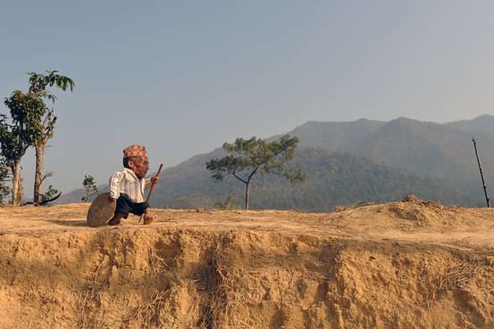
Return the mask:
<svg viewBox="0 0 494 329">
<path fill-rule="evenodd" d="M 132 202 L 144 202 L 144 189 L 151 185 L 151 180 L 139 179 L 132 169 L 115 171 L 110 177 L 110 196 L 118 199 L 120 194 L 127 194 Z"/>
</svg>

